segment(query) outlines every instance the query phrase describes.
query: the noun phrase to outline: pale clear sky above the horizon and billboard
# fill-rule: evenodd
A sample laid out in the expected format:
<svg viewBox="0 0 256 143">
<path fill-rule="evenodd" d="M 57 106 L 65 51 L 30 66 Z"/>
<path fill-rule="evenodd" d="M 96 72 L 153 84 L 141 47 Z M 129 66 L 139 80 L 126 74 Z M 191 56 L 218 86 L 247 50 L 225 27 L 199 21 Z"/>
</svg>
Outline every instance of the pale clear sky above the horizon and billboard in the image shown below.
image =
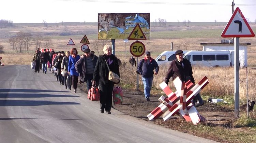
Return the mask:
<svg viewBox="0 0 256 143">
<path fill-rule="evenodd" d="M 150 13 L 150 21 L 228 22 L 233 0 L 1 0 L 0 19 L 13 23 L 97 22 L 98 13 Z M 234 0 L 256 20 L 256 0 Z"/>
</svg>

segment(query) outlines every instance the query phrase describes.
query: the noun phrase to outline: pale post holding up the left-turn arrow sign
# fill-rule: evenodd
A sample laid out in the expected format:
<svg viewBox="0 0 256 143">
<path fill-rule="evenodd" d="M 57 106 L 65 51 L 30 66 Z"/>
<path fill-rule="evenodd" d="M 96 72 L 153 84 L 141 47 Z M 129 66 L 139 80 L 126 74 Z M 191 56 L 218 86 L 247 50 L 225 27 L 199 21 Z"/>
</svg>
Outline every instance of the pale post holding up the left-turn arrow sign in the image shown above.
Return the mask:
<svg viewBox="0 0 256 143">
<path fill-rule="evenodd" d="M 235 119 L 239 119 L 239 37 L 235 37 Z"/>
</svg>

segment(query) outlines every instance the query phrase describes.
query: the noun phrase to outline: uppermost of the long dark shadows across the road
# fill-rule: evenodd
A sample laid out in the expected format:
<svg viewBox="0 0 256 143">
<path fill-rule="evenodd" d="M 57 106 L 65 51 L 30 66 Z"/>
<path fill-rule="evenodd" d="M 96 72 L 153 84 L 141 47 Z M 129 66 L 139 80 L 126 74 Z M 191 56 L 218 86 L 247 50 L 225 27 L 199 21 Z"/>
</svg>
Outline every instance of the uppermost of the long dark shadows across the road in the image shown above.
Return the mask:
<svg viewBox="0 0 256 143">
<path fill-rule="evenodd" d="M 41 90 L 41 89 L 0 89 L 0 93 L 42 93 L 42 92 L 62 92 L 68 93 L 70 91 L 60 91 L 60 90 Z"/>
</svg>

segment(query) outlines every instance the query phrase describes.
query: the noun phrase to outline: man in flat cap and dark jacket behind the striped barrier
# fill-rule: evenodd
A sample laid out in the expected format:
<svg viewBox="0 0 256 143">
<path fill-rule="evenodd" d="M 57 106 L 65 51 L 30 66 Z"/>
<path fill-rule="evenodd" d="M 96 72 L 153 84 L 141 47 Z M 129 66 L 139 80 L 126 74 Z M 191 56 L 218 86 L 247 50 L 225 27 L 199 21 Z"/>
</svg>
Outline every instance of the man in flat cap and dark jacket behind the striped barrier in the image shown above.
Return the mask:
<svg viewBox="0 0 256 143">
<path fill-rule="evenodd" d="M 193 77 L 192 66 L 189 60 L 183 58 L 183 51 L 177 50 L 175 52 L 176 59 L 171 61 L 170 67 L 165 76 L 165 83 L 168 85 L 169 79 L 173 81 L 175 78 L 179 77 L 181 81 L 187 82 L 191 80 L 191 82 L 195 85 L 195 80 Z M 197 100 L 197 103 L 196 103 Z M 200 100 L 200 101 L 198 101 Z M 204 101 L 198 94 L 196 98 L 193 99 L 193 103 L 196 107 L 204 104 Z"/>
</svg>

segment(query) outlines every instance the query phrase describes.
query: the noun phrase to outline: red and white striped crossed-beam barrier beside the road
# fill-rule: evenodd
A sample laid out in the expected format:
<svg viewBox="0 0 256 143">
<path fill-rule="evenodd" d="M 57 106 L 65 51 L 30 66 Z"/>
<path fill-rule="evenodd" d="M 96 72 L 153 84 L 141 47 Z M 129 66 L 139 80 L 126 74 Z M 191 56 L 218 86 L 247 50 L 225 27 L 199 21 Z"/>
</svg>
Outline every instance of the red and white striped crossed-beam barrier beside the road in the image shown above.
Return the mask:
<svg viewBox="0 0 256 143">
<path fill-rule="evenodd" d="M 171 91 L 168 85 L 163 82 L 160 87 L 168 96 L 166 99 L 161 96 L 158 100 L 162 102 L 155 108 L 147 117 L 153 121 L 163 115 L 164 121 L 169 120 L 175 114 L 183 117 L 186 121 L 192 121 L 197 124 L 199 121 L 204 121 L 205 118 L 200 116 L 193 106 L 191 100 L 209 83 L 207 77 L 202 78 L 195 86 L 191 81 L 184 83 L 179 78 L 174 80 L 174 85 L 177 89 L 175 93 Z M 187 91 L 187 92 L 186 92 Z"/>
</svg>

